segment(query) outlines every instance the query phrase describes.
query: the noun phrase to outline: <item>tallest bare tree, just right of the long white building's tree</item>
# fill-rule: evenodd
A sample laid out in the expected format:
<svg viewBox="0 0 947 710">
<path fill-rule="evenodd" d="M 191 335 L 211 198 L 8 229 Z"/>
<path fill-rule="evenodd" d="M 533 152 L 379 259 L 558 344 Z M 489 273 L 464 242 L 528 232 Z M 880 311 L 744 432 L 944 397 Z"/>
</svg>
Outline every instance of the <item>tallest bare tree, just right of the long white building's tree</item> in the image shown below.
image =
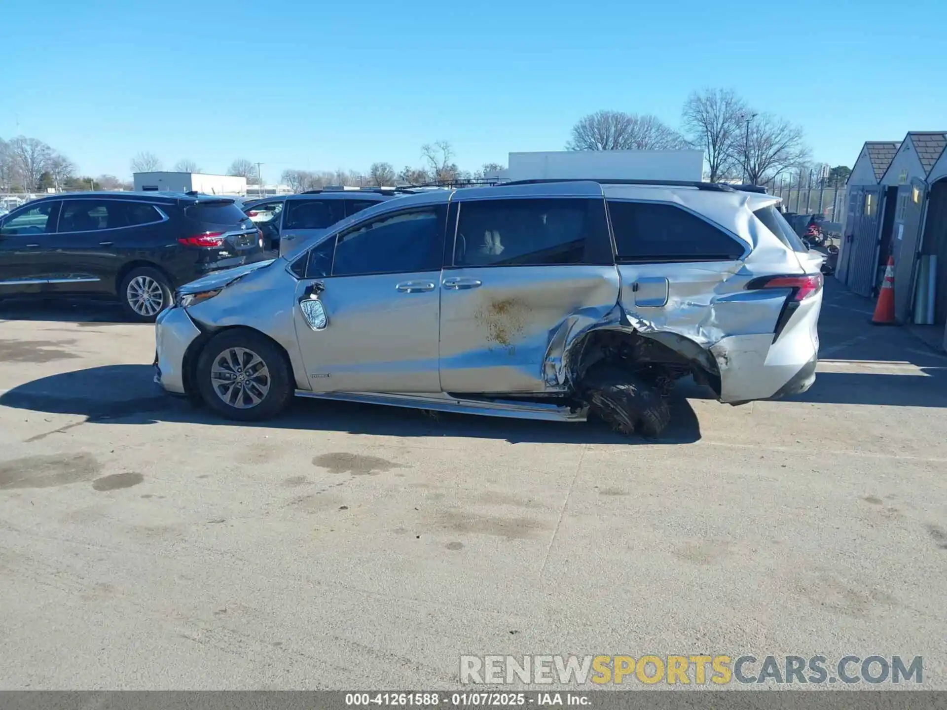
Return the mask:
<svg viewBox="0 0 947 710">
<path fill-rule="evenodd" d="M 740 164 L 746 103 L 733 89 L 691 92 L 682 118 L 694 148 L 704 151 L 711 183 L 727 177 Z"/>
</svg>

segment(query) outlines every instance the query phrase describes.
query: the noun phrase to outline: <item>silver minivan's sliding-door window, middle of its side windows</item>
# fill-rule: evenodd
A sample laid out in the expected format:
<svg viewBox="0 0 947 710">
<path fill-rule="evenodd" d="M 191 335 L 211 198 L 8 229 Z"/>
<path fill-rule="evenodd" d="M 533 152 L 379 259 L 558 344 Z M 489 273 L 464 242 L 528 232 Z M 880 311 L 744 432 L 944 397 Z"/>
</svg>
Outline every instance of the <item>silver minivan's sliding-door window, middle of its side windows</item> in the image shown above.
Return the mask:
<svg viewBox="0 0 947 710">
<path fill-rule="evenodd" d="M 611 261 L 600 200 L 484 200 L 460 204 L 455 266 L 547 266 Z M 598 218 L 598 219 L 597 219 Z"/>
</svg>

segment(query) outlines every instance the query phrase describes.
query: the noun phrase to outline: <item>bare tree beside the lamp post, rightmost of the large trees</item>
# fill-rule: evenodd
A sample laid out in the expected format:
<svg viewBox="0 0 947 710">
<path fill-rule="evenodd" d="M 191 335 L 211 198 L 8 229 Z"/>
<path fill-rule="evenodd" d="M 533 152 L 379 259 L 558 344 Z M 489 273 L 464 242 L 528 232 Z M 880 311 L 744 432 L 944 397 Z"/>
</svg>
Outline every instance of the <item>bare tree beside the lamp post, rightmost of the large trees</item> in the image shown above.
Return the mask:
<svg viewBox="0 0 947 710">
<path fill-rule="evenodd" d="M 758 114 L 744 129 L 739 155 L 746 181 L 762 185 L 809 157 L 802 128 L 772 114 Z"/>
</svg>

